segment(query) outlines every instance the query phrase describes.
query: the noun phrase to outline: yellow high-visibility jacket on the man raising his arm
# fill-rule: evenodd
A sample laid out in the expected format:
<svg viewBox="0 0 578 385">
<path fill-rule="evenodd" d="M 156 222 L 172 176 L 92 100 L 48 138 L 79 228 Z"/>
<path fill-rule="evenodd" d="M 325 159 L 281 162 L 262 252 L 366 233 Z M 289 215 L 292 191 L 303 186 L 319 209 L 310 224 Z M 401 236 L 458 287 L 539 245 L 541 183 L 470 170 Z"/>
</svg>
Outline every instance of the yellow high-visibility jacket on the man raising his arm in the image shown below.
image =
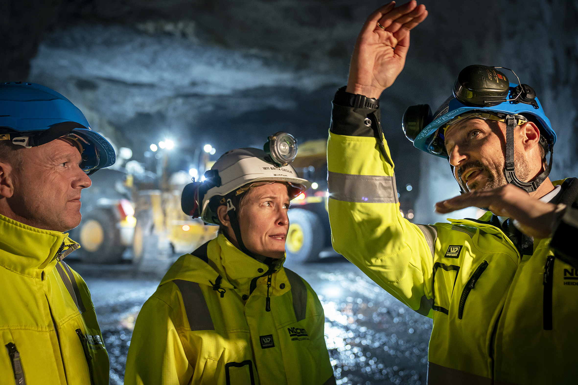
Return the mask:
<svg viewBox="0 0 578 385">
<path fill-rule="evenodd" d="M 369 278 L 433 319 L 428 384 L 578 383 L 578 271 L 554 257 L 549 238 L 521 255 L 488 222 L 491 212 L 433 226 L 404 219 L 387 143 L 386 159 L 373 135 L 334 130 L 354 132 L 364 118 L 375 126 L 374 111 L 334 105 L 332 241 Z"/>
</svg>

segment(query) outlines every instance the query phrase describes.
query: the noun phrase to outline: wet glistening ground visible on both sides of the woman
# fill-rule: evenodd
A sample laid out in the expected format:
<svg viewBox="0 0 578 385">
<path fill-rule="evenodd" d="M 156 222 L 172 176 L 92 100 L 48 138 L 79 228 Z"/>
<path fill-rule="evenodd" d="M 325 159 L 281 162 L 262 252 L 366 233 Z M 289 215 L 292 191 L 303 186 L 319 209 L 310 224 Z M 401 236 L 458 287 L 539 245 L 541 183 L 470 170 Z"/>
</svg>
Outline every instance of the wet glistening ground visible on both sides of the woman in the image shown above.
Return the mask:
<svg viewBox="0 0 578 385">
<path fill-rule="evenodd" d="M 158 279 L 131 265 L 71 266 L 91 290 L 110 357 L 110 384 L 122 384 L 140 306 Z M 338 385 L 425 384 L 432 320 L 412 311 L 342 258 L 286 267 L 310 283 L 325 309 L 325 339 Z"/>
</svg>

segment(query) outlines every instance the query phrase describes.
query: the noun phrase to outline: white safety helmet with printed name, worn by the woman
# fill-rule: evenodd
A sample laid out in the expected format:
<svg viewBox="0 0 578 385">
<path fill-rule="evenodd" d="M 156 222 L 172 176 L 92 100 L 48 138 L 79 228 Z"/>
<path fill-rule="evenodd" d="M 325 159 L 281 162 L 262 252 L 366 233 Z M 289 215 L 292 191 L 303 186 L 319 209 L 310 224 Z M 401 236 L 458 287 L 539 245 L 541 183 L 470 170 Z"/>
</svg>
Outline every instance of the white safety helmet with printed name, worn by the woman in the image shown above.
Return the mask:
<svg viewBox="0 0 578 385">
<path fill-rule="evenodd" d="M 299 178 L 293 166 L 286 164 L 277 167 L 275 160 L 271 154 L 258 148 L 237 148 L 225 152 L 213 167 L 206 171 L 204 181 L 193 182 L 184 188 L 181 196 L 184 213 L 193 218 L 201 217 L 207 223 L 220 225 L 217 213 L 213 210 L 216 210 L 218 205 L 229 205 L 226 198 L 245 192 L 247 189 L 242 189 L 243 186 L 261 181 L 286 182 L 290 199 L 311 186 L 311 182 Z M 215 196 L 221 199 L 216 207 L 212 207 L 209 202 Z M 228 210 L 230 209 L 229 207 Z"/>
</svg>

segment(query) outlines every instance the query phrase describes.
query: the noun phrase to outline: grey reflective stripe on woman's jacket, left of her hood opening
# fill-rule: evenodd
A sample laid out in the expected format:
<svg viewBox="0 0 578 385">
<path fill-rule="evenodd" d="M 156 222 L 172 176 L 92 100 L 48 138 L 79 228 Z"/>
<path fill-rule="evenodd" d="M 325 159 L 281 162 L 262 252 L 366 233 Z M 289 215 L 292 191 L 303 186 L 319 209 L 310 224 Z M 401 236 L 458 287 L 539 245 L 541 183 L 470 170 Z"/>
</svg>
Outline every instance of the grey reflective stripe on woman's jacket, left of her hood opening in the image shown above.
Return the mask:
<svg viewBox="0 0 578 385">
<path fill-rule="evenodd" d="M 215 330 L 209 306 L 199 284 L 183 279 L 173 279 L 173 282 L 179 287 L 183 297 L 184 310 L 191 330 Z"/>
</svg>

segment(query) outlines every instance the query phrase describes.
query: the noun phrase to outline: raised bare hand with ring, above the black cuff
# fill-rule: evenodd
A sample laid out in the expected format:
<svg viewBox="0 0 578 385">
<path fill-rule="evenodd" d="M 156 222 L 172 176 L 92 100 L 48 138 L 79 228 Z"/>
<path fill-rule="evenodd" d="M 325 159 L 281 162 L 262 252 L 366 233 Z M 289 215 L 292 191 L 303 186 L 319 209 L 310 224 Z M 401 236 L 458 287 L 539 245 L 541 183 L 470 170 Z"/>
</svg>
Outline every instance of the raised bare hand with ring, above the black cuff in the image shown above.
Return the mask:
<svg viewBox="0 0 578 385">
<path fill-rule="evenodd" d="M 415 0 L 395 8 L 395 1 L 369 15 L 355 42 L 347 92 L 379 98 L 403 69 L 409 31 L 428 16 Z"/>
</svg>

